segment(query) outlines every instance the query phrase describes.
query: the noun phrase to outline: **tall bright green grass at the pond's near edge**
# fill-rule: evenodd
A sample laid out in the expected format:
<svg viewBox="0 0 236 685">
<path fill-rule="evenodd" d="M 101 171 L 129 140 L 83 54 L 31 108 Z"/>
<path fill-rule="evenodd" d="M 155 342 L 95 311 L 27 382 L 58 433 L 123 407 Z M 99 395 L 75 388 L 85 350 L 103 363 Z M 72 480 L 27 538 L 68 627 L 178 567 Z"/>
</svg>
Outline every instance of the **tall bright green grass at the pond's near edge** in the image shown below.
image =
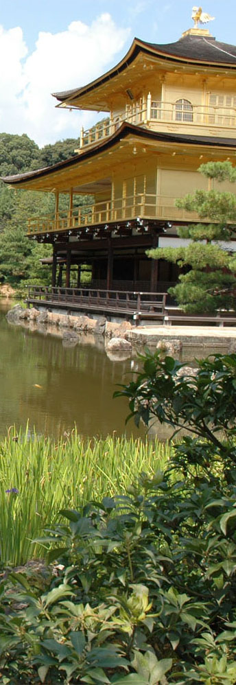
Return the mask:
<svg viewBox="0 0 236 685">
<path fill-rule="evenodd" d="M 154 474 L 170 453 L 167 443 L 107 437 L 59 442 L 27 430 L 0 443 L 0 559 L 17 566 L 42 557 L 32 540 L 62 508 L 121 494 L 139 472 Z M 17 489 L 17 492 L 12 491 Z M 9 490 L 9 492 L 6 492 Z"/>
</svg>

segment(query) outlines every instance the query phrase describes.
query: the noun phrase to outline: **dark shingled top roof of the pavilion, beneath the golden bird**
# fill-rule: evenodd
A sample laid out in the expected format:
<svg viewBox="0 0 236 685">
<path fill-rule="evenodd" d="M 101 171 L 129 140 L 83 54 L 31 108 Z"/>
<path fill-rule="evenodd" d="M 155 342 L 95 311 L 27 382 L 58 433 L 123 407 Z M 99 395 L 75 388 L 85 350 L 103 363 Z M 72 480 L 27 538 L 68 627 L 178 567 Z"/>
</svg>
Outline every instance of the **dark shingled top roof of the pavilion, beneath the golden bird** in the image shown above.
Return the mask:
<svg viewBox="0 0 236 685">
<path fill-rule="evenodd" d="M 123 71 L 123 69 L 126 69 L 127 65 L 134 60 L 140 51 L 144 51 L 147 54 L 152 53 L 152 55 L 156 53 L 156 55 L 159 55 L 166 60 L 180 61 L 183 59 L 188 60 L 188 62 L 200 63 L 205 66 L 219 65 L 220 67 L 228 65 L 236 67 L 236 46 L 228 45 L 228 43 L 220 43 L 212 36 L 187 34 L 187 36 L 183 36 L 180 40 L 176 40 L 176 43 L 167 43 L 163 45 L 158 45 L 158 43 L 146 43 L 144 40 L 134 38 L 128 53 L 116 67 L 113 67 L 113 69 L 107 71 L 100 78 L 97 78 L 95 81 L 92 81 L 81 88 L 78 87 L 69 91 L 52 93 L 52 95 L 54 95 L 57 100 L 60 100 L 60 102 L 63 102 L 73 95 L 82 95 L 93 90 L 96 86 L 106 82 L 108 78 L 112 78 L 113 76 L 116 76 L 117 73 Z"/>
</svg>

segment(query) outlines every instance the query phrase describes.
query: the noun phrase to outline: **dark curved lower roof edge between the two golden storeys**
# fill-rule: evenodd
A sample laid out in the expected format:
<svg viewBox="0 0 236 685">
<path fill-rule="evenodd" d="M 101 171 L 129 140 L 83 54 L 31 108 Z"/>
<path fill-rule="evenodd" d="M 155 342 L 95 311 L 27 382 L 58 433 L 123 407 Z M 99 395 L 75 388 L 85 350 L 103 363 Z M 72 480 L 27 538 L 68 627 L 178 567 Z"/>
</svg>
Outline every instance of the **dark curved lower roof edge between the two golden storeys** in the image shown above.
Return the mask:
<svg viewBox="0 0 236 685">
<path fill-rule="evenodd" d="M 180 146 L 185 145 L 193 147 L 198 146 L 201 148 L 215 148 L 218 150 L 223 149 L 227 152 L 232 149 L 236 150 L 236 139 L 214 138 L 195 135 L 181 135 L 178 133 L 160 133 L 150 131 L 138 126 L 134 126 L 134 124 L 127 124 L 126 121 L 124 121 L 123 124 L 121 124 L 119 129 L 113 135 L 107 137 L 93 148 L 89 148 L 88 150 L 84 149 L 80 154 L 77 154 L 76 156 L 73 156 L 70 159 L 66 159 L 62 162 L 58 162 L 57 164 L 54 164 L 51 167 L 44 167 L 43 169 L 38 169 L 32 172 L 25 172 L 25 174 L 17 174 L 16 176 L 1 177 L 1 181 L 3 181 L 3 183 L 11 185 L 12 187 L 19 187 L 25 189 L 27 189 L 27 187 L 29 187 L 30 189 L 31 184 L 34 184 L 34 187 L 32 187 L 32 189 L 36 189 L 34 182 L 37 180 L 41 181 L 42 178 L 45 178 L 45 181 L 48 181 L 48 179 L 52 177 L 55 178 L 56 182 L 57 174 L 61 175 L 61 172 L 66 171 L 67 169 L 72 169 L 76 165 L 80 166 L 82 165 L 83 161 L 101 155 L 102 152 L 106 152 L 106 150 L 108 150 L 109 148 L 115 147 L 117 143 L 121 141 L 121 139 L 123 140 L 129 136 L 132 137 L 132 139 L 142 139 L 150 142 L 154 141 L 164 144 L 171 143 L 174 145 L 179 144 Z M 49 185 L 47 185 L 47 183 L 45 183 L 45 187 L 41 186 L 40 190 L 51 191 L 52 189 L 51 187 L 49 187 Z"/>
</svg>

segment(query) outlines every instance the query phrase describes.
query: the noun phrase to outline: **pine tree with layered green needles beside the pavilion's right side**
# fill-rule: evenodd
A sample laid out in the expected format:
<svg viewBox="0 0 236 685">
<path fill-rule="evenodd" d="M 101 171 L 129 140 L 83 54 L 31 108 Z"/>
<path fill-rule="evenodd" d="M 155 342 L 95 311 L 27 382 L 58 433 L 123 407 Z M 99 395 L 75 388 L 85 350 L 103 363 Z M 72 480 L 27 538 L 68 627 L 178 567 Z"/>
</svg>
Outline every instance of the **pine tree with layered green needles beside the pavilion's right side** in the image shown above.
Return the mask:
<svg viewBox="0 0 236 685">
<path fill-rule="evenodd" d="M 236 170 L 227 161 L 202 164 L 199 171 L 219 183 L 236 181 Z M 179 283 L 169 290 L 170 294 L 185 312 L 235 310 L 235 257 L 231 257 L 221 244 L 236 237 L 235 194 L 215 189 L 196 190 L 193 195 L 177 200 L 176 207 L 196 211 L 202 221 L 210 223 L 178 229 L 180 237 L 191 240 L 186 247 L 156 248 L 148 252 L 154 259 L 167 259 L 180 268 L 191 268 L 180 275 Z"/>
</svg>

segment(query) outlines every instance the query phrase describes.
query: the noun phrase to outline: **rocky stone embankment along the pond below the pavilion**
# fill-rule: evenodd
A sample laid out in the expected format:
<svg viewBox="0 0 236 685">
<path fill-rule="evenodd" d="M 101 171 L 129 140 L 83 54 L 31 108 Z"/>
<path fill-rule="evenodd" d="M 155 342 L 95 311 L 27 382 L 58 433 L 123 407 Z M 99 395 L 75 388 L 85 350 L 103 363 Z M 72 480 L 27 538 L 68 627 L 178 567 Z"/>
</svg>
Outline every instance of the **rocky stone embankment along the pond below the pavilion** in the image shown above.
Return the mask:
<svg viewBox="0 0 236 685">
<path fill-rule="evenodd" d="M 200 348 L 201 356 L 216 351 L 221 353 L 236 351 L 236 328 L 218 326 L 156 326 L 136 327 L 130 321 L 115 323 L 105 317 L 99 319 L 88 316 L 72 316 L 56 312 L 25 309 L 15 305 L 8 312 L 9 323 L 25 325 L 32 331 L 54 334 L 62 338 L 64 347 L 74 347 L 86 341 L 102 345 L 110 359 L 121 360 L 130 357 L 132 349 L 142 349 L 145 345 L 152 350 L 158 349 L 165 356 L 179 356 L 183 349 Z M 193 355 L 194 356 L 194 355 Z M 191 358 L 191 356 L 189 357 Z"/>
</svg>

